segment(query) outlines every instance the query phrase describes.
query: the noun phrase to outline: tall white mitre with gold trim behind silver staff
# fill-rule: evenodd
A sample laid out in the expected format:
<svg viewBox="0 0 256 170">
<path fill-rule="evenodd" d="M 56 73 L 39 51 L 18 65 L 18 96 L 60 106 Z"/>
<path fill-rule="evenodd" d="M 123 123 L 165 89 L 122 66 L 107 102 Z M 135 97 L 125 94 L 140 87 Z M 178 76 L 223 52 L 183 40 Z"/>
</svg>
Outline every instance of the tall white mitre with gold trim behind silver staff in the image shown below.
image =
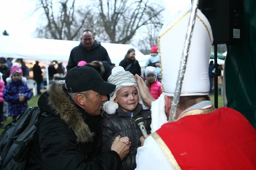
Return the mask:
<svg viewBox="0 0 256 170">
<path fill-rule="evenodd" d="M 167 96 L 174 95 L 180 59 L 188 31 L 190 8 L 191 5 L 187 5 L 159 32 L 162 91 Z M 180 96 L 207 95 L 209 93 L 208 67 L 212 42 L 210 23 L 204 14 L 197 10 Z"/>
</svg>

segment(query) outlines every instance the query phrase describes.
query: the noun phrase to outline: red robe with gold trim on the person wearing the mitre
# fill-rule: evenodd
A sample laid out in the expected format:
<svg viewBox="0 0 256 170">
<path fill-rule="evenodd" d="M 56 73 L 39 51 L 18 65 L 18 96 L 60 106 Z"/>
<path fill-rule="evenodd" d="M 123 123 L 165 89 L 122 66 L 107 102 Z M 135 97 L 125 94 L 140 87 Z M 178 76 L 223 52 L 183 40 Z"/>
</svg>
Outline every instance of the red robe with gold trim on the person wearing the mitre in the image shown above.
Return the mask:
<svg viewBox="0 0 256 170">
<path fill-rule="evenodd" d="M 234 109 L 194 109 L 152 134 L 175 169 L 256 169 L 256 130 Z"/>
</svg>

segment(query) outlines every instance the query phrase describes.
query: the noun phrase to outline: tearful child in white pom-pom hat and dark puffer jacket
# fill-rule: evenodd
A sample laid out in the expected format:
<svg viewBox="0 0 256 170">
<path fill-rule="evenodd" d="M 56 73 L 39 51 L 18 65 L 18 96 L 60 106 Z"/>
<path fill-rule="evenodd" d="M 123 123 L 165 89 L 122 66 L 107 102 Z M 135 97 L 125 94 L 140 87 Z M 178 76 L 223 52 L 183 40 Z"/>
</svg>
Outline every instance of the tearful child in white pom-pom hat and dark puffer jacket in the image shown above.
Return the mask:
<svg viewBox="0 0 256 170">
<path fill-rule="evenodd" d="M 142 136 L 133 116 L 140 114 L 144 118 L 145 128 L 149 134 L 151 113 L 140 98 L 138 84 L 132 73 L 125 71 L 121 66 L 114 67 L 108 82 L 115 84 L 116 89 L 110 94 L 110 100 L 103 105 L 103 151 L 110 150 L 117 135 L 121 136 L 121 142 L 127 142 L 129 137 L 132 146 L 122 162 L 121 169 L 132 170 L 136 168 L 135 158 L 137 148 L 141 145 L 139 138 Z"/>
</svg>

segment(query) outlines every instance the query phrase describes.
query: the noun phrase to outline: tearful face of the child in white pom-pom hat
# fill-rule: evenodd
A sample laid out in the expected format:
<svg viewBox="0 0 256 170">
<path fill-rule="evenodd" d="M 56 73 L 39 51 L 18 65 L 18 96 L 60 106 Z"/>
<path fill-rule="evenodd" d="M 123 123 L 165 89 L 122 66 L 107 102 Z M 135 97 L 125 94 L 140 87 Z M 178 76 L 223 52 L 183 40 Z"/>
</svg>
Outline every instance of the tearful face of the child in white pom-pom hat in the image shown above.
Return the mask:
<svg viewBox="0 0 256 170">
<path fill-rule="evenodd" d="M 132 112 L 137 107 L 139 95 L 136 87 L 123 87 L 116 93 L 114 100 L 125 112 Z"/>
</svg>

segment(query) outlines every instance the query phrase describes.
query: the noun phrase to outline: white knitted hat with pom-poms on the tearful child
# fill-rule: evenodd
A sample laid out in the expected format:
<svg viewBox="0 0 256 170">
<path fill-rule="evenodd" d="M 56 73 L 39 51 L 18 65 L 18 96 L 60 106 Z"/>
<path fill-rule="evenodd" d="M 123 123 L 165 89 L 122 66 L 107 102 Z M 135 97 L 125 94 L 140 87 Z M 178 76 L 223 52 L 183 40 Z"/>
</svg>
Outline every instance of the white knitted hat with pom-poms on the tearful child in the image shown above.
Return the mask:
<svg viewBox="0 0 256 170">
<path fill-rule="evenodd" d="M 125 71 L 124 68 L 121 66 L 114 67 L 111 71 L 111 75 L 108 78 L 108 82 L 116 85 L 116 88 L 114 92 L 110 93 L 109 101 L 105 102 L 103 105 L 103 109 L 107 114 L 111 115 L 116 113 L 116 109 L 118 108 L 118 104 L 114 102 L 116 98 L 116 92 L 123 87 L 129 86 L 134 86 L 137 88 L 139 95 L 139 103 L 142 105 L 143 109 L 149 109 L 147 106 L 143 104 L 142 99 L 140 97 L 138 83 L 135 80 L 132 73 L 130 73 L 130 71 Z"/>
</svg>

